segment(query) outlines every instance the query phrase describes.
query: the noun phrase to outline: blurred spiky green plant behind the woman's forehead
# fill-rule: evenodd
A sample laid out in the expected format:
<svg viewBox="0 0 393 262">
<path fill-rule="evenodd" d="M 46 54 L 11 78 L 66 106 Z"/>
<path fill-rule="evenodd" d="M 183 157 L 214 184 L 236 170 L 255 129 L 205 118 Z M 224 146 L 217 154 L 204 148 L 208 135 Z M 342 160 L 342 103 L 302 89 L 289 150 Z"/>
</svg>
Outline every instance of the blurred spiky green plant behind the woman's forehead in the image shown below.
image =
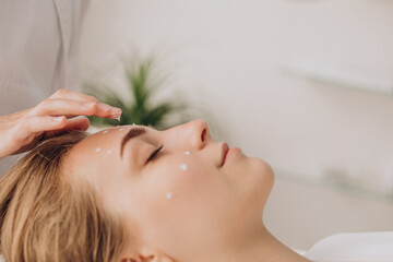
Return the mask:
<svg viewBox="0 0 393 262">
<path fill-rule="evenodd" d="M 184 116 L 187 115 L 186 109 L 188 108 L 186 103 L 179 102 L 179 99 L 176 102 L 167 99 L 156 104 L 152 102 L 152 98 L 154 98 L 154 95 L 158 92 L 164 81 L 162 79 L 154 82 L 152 75 L 153 64 L 154 59 L 152 58 L 136 62 L 123 61 L 127 86 L 132 97 L 131 102 L 127 102 L 123 96 L 104 83 L 84 83 L 84 93 L 94 95 L 100 102 L 121 108 L 122 110 L 120 122 L 116 119 L 88 117 L 91 123 L 94 126 L 135 123 L 163 130 L 178 124 L 168 124 L 166 121 L 167 118 L 174 114 L 181 115 L 183 122 Z"/>
</svg>

